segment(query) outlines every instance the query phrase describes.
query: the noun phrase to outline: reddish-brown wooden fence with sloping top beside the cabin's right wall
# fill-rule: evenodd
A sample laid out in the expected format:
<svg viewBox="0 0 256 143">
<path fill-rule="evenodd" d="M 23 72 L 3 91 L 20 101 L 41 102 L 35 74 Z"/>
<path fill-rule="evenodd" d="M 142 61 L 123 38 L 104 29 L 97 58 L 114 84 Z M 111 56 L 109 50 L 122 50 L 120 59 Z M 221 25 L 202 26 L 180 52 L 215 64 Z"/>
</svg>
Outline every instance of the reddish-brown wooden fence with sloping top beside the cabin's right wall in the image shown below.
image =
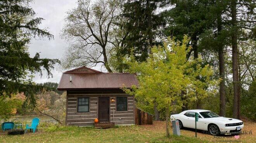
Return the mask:
<svg viewBox="0 0 256 143">
<path fill-rule="evenodd" d="M 153 124 L 153 115 L 135 108 L 135 124 Z"/>
</svg>

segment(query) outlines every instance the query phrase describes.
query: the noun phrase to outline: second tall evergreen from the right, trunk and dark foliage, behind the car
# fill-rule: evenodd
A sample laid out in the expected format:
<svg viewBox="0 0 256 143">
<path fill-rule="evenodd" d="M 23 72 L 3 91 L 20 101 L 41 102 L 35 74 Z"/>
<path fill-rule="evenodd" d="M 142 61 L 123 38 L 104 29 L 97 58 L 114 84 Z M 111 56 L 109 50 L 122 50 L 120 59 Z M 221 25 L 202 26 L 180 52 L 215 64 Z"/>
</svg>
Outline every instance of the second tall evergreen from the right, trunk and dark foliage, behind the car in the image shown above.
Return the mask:
<svg viewBox="0 0 256 143">
<path fill-rule="evenodd" d="M 209 29 L 206 29 L 200 35 L 199 47 L 201 49 L 210 50 L 218 53 L 219 77 L 220 82 L 220 116 L 225 116 L 225 64 L 224 64 L 224 48 L 228 43 L 228 23 L 223 18 L 223 13 L 227 11 L 228 2 L 223 0 L 215 0 L 209 5 L 209 13 L 207 19 L 211 22 Z"/>
</svg>

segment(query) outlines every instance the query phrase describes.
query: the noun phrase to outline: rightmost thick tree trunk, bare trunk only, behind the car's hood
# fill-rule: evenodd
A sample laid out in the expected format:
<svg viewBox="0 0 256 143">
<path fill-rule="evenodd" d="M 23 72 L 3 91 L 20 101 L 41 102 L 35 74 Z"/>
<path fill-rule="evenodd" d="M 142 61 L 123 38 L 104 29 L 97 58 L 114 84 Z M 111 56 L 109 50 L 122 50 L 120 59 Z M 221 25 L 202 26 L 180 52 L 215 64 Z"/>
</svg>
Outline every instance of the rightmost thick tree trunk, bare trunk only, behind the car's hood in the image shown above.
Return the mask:
<svg viewBox="0 0 256 143">
<path fill-rule="evenodd" d="M 238 47 L 237 47 L 237 10 L 236 0 L 231 2 L 231 17 L 232 17 L 232 72 L 234 84 L 234 104 L 233 104 L 233 118 L 240 118 L 240 87 L 238 74 Z"/>
</svg>

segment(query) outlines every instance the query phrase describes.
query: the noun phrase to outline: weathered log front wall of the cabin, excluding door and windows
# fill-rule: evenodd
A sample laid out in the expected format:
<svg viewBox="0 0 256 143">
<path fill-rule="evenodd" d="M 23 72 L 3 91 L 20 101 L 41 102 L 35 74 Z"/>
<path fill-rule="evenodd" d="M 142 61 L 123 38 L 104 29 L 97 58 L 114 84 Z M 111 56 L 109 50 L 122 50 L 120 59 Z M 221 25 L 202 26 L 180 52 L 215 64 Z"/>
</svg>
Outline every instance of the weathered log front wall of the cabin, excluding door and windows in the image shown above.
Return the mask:
<svg viewBox="0 0 256 143">
<path fill-rule="evenodd" d="M 116 97 L 127 97 L 127 111 L 116 111 Z M 77 112 L 77 98 L 89 97 L 89 112 Z M 98 118 L 98 97 L 109 97 L 109 121 L 115 124 L 135 124 L 134 98 L 122 90 L 67 91 L 66 125 L 90 126 Z M 115 101 L 111 101 L 111 99 Z M 114 112 L 114 114 L 113 114 Z"/>
</svg>

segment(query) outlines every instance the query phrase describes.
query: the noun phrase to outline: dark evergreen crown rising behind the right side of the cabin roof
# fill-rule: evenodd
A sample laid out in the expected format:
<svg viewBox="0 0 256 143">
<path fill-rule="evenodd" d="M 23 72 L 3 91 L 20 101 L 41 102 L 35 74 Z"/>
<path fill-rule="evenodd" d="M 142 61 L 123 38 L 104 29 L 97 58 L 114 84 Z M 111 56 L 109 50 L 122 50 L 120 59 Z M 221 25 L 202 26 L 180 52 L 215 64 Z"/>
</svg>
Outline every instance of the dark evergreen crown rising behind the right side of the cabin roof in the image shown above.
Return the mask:
<svg viewBox="0 0 256 143">
<path fill-rule="evenodd" d="M 166 0 L 127 0 L 123 5 L 123 17 L 127 19 L 124 27 L 129 31 L 125 39 L 124 54 L 134 48 L 137 61 L 145 61 L 150 47 L 156 44 L 157 29 L 163 25 L 161 15 L 156 13 Z"/>
</svg>

